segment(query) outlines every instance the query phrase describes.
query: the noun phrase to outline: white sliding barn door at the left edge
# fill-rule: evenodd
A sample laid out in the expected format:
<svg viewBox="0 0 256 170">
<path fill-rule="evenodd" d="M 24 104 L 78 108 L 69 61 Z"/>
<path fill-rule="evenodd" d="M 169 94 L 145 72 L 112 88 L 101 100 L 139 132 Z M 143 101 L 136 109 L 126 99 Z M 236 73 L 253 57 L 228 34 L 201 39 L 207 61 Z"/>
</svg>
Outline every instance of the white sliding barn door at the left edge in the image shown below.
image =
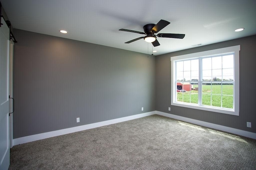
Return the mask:
<svg viewBox="0 0 256 170">
<path fill-rule="evenodd" d="M 3 18 L 0 27 L 0 170 L 10 165 L 9 133 L 9 28 Z"/>
</svg>

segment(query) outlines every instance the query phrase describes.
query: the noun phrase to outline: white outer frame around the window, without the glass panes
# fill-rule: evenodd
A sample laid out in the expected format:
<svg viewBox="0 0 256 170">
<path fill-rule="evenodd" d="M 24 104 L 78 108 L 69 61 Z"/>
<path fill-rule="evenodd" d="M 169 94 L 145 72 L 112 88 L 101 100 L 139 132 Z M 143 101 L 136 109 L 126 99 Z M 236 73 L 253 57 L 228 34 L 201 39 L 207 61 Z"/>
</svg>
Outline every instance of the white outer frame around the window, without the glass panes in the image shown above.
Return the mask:
<svg viewBox="0 0 256 170">
<path fill-rule="evenodd" d="M 187 55 L 179 55 L 171 57 L 171 105 L 173 106 L 180 106 L 180 107 L 188 107 L 192 109 L 200 109 L 206 111 L 213 111 L 218 113 L 225 113 L 230 115 L 239 115 L 239 51 L 240 45 L 226 47 L 221 49 L 214 49 L 209 51 L 202 51 L 198 53 L 192 53 Z M 225 55 L 228 53 L 234 53 L 234 108 L 233 109 L 226 109 L 223 107 L 212 107 L 212 106 L 199 106 L 190 103 L 184 102 L 176 102 L 176 84 L 174 78 L 176 77 L 176 68 L 174 64 L 176 61 L 182 61 L 186 59 L 196 59 L 200 57 L 211 57 L 216 55 Z M 198 84 L 199 86 L 199 84 Z M 202 89 L 202 88 L 201 88 Z M 199 100 L 199 99 L 198 99 Z"/>
</svg>

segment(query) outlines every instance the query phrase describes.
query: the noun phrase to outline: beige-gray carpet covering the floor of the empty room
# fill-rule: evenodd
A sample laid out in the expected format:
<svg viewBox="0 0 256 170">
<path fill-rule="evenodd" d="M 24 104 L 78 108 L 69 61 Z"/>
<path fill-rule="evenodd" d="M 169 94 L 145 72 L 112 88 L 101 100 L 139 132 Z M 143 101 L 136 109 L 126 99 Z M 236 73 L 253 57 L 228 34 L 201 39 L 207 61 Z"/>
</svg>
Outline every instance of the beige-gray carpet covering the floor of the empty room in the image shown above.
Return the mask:
<svg viewBox="0 0 256 170">
<path fill-rule="evenodd" d="M 16 145 L 10 170 L 255 170 L 256 140 L 152 115 Z"/>
</svg>

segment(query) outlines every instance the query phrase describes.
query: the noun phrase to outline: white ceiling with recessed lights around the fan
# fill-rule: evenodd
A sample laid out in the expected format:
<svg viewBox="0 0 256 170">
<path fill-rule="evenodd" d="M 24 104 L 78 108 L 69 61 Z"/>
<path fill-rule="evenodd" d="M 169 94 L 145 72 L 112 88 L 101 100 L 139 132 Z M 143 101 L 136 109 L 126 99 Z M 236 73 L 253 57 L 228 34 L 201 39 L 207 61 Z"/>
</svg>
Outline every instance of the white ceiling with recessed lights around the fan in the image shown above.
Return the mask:
<svg viewBox="0 0 256 170">
<path fill-rule="evenodd" d="M 256 0 L 0 0 L 16 29 L 75 39 L 140 53 L 161 55 L 197 44 L 256 35 Z M 148 23 L 170 24 L 158 33 L 182 33 L 184 39 L 158 37 L 153 47 L 141 37 Z M 237 28 L 244 31 L 235 32 Z M 68 34 L 62 34 L 65 29 Z M 15 35 L 14 35 L 15 36 Z M 17 41 L 19 41 L 17 39 Z"/>
</svg>

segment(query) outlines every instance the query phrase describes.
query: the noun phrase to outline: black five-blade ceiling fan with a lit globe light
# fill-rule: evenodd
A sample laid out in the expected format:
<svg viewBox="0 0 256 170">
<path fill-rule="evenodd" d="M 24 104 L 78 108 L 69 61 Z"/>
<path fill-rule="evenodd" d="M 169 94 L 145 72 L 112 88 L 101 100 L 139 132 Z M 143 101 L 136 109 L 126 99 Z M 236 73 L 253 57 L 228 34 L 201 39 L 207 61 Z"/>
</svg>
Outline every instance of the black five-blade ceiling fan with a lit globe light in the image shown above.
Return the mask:
<svg viewBox="0 0 256 170">
<path fill-rule="evenodd" d="M 139 37 L 136 39 L 133 39 L 131 41 L 127 41 L 126 44 L 132 43 L 134 41 L 137 41 L 139 39 L 144 38 L 144 40 L 148 43 L 152 43 L 154 47 L 160 45 L 160 43 L 157 41 L 156 37 L 164 37 L 164 38 L 179 38 L 183 39 L 185 37 L 185 34 L 173 34 L 173 33 L 159 33 L 157 35 L 154 35 L 155 33 L 158 33 L 161 29 L 169 25 L 170 22 L 165 21 L 165 20 L 160 20 L 157 24 L 150 23 L 144 25 L 143 29 L 144 32 L 140 31 L 133 31 L 130 29 L 119 29 L 119 31 L 127 31 L 127 32 L 132 32 L 132 33 L 139 33 L 139 34 L 144 34 L 146 35 L 145 37 Z"/>
</svg>

